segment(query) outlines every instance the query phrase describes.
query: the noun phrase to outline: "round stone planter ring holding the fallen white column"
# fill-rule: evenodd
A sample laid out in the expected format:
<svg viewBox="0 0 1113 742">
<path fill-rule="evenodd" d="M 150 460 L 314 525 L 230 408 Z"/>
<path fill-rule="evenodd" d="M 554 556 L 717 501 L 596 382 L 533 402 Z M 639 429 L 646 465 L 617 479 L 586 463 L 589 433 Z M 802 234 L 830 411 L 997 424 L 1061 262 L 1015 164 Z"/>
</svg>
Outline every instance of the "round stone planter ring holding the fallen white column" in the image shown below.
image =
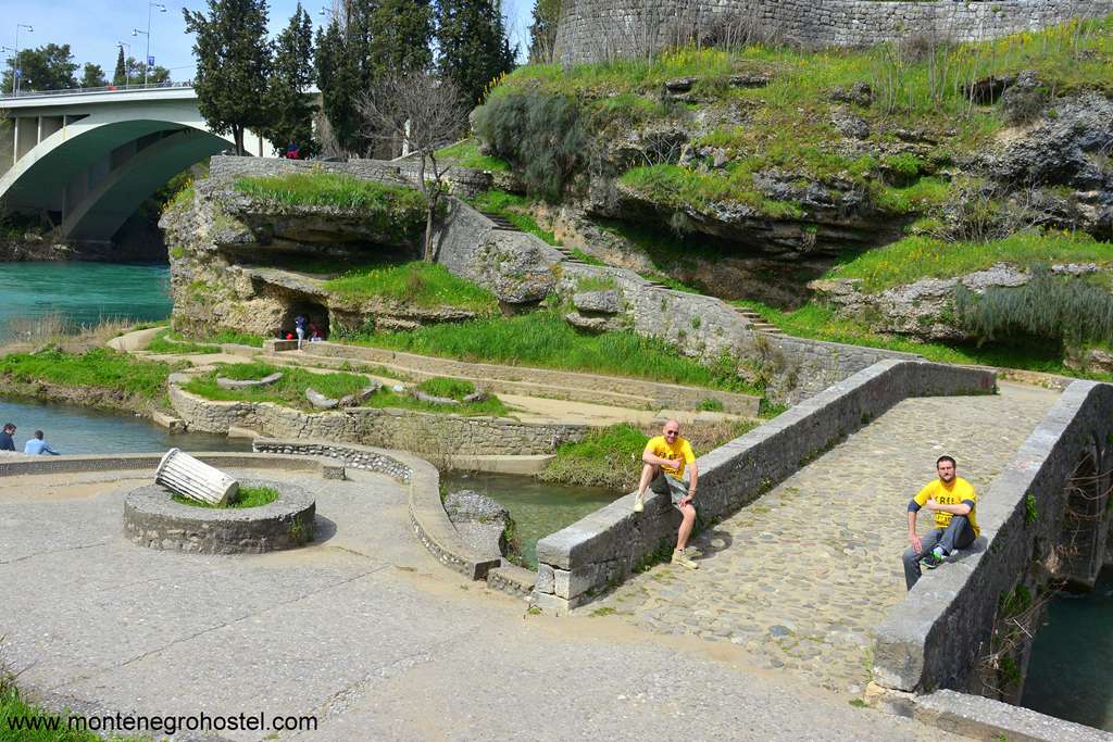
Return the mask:
<svg viewBox="0 0 1113 742">
<path fill-rule="evenodd" d="M 317 504 L 309 493 L 280 482 L 239 484 L 274 487 L 278 498 L 259 507 L 195 507 L 174 502 L 160 485 L 147 485 L 124 502 L 124 535 L 139 546 L 195 554 L 262 554 L 313 541 Z"/>
</svg>

